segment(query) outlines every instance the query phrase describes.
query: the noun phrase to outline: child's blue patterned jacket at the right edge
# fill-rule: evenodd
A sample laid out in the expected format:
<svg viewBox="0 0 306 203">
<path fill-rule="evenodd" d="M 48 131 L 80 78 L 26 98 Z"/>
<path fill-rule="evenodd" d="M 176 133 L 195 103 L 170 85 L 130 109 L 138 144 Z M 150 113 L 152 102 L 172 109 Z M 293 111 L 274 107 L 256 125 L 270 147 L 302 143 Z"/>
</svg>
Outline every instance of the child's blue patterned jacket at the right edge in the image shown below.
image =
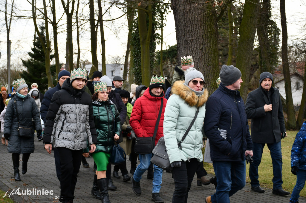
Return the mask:
<svg viewBox="0 0 306 203">
<path fill-rule="evenodd" d="M 291 167 L 306 170 L 306 121 L 295 136 L 291 150 Z"/>
</svg>

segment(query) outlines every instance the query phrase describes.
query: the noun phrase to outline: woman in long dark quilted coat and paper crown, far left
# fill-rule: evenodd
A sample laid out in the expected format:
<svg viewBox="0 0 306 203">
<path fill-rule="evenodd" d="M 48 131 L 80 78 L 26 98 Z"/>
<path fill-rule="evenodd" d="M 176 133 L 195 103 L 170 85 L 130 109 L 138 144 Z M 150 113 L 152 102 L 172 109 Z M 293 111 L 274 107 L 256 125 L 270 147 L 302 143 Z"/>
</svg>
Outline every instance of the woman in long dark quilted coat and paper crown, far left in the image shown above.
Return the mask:
<svg viewBox="0 0 306 203">
<path fill-rule="evenodd" d="M 13 86 L 16 94 L 7 105 L 3 134 L 9 141 L 7 150 L 9 153 L 12 153 L 15 180 L 20 181 L 19 155 L 22 154 L 22 174 L 25 174 L 27 173 L 30 154 L 34 152 L 33 129 L 35 127 L 37 135 L 40 135 L 42 128 L 37 105 L 28 94 L 28 85 L 24 79 L 20 78 L 14 81 Z M 32 118 L 34 120 L 33 123 Z M 32 128 L 32 137 L 21 137 L 18 132 L 20 126 Z"/>
</svg>

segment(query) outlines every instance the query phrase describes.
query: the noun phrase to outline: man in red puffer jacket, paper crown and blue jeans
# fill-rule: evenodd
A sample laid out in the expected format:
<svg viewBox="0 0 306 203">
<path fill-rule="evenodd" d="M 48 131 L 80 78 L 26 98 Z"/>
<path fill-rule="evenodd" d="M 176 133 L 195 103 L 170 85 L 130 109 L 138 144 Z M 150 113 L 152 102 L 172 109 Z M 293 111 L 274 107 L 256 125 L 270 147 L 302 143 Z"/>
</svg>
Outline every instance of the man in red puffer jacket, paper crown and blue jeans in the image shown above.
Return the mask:
<svg viewBox="0 0 306 203">
<path fill-rule="evenodd" d="M 130 118 L 130 125 L 132 126 L 132 129 L 137 137 L 153 137 L 155 126 L 158 126 L 155 144 L 157 144 L 159 138 L 163 136 L 164 112 L 167 104 L 167 100 L 164 98 L 164 89 L 165 78 L 152 76 L 149 88 L 145 90 L 142 97 L 136 99 Z M 157 123 L 162 102 L 162 112 L 159 123 Z M 139 154 L 140 164 L 137 166 L 134 175 L 131 177 L 132 189 L 137 195 L 141 194 L 141 176 L 149 168 L 151 158 L 152 153 Z M 154 178 L 151 200 L 155 202 L 164 202 L 159 196 L 159 191 L 162 184 L 163 169 L 156 165 L 154 165 L 153 168 Z"/>
</svg>

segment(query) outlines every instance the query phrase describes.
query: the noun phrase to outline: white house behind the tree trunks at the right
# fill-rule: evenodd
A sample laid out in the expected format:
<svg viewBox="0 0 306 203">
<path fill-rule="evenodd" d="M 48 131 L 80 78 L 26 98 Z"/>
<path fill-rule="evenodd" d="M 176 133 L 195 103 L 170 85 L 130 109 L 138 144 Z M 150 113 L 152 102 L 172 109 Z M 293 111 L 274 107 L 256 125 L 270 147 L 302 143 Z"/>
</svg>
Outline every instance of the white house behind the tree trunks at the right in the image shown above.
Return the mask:
<svg viewBox="0 0 306 203">
<path fill-rule="evenodd" d="M 280 73 L 273 74 L 274 78 L 274 85 L 278 88 L 280 94 L 283 98 L 286 99 L 286 92 L 285 92 L 285 80 L 284 75 Z M 299 73 L 294 72 L 290 74 L 291 78 L 291 93 L 293 99 L 293 105 L 299 106 L 301 104 L 302 93 L 303 93 L 303 76 Z"/>
</svg>

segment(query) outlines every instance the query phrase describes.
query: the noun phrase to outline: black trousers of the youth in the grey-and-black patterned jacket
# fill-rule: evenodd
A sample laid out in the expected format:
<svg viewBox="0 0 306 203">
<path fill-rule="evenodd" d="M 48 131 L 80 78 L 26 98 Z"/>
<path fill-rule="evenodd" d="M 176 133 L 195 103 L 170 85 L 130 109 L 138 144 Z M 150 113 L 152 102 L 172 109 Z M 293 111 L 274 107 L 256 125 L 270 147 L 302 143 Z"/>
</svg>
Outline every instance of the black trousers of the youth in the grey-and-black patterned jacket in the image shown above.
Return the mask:
<svg viewBox="0 0 306 203">
<path fill-rule="evenodd" d="M 61 197 L 65 201 L 73 200 L 83 149 L 71 150 L 62 147 L 57 149 L 61 160 Z"/>
</svg>

